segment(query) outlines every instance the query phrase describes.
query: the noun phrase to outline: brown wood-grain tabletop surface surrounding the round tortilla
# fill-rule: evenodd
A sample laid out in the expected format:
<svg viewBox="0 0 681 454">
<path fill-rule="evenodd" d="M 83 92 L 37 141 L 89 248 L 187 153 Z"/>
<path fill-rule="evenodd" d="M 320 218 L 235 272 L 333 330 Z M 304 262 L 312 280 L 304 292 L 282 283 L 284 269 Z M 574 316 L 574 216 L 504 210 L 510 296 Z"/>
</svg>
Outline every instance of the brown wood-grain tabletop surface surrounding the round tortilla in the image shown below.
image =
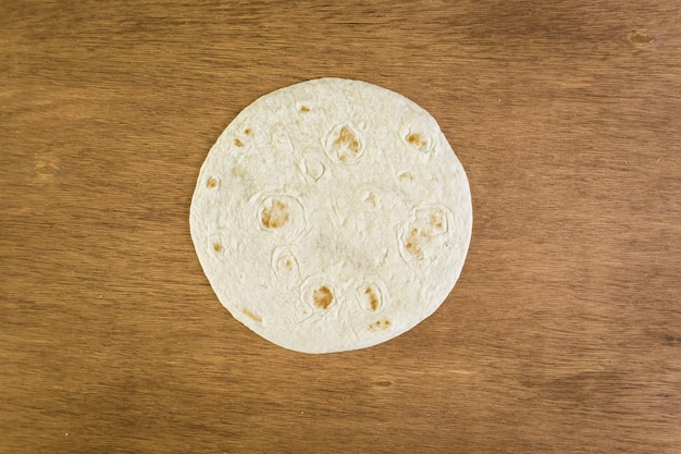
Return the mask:
<svg viewBox="0 0 681 454">
<path fill-rule="evenodd" d="M 680 453 L 680 24 L 679 1 L 0 1 L 0 453 Z M 474 228 L 435 315 L 313 356 L 222 308 L 188 209 L 239 110 L 320 76 L 429 110 Z"/>
</svg>

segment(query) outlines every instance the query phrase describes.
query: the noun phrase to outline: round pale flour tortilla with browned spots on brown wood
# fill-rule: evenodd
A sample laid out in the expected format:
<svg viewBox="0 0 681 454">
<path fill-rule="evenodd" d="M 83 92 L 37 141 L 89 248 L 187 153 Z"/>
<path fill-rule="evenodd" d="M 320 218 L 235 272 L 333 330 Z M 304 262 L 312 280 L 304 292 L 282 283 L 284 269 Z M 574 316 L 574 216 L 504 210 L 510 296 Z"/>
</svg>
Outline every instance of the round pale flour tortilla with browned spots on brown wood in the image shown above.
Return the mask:
<svg viewBox="0 0 681 454">
<path fill-rule="evenodd" d="M 397 93 L 320 78 L 256 100 L 222 133 L 190 209 L 218 298 L 285 348 L 369 347 L 456 283 L 472 209 L 435 120 Z"/>
</svg>

